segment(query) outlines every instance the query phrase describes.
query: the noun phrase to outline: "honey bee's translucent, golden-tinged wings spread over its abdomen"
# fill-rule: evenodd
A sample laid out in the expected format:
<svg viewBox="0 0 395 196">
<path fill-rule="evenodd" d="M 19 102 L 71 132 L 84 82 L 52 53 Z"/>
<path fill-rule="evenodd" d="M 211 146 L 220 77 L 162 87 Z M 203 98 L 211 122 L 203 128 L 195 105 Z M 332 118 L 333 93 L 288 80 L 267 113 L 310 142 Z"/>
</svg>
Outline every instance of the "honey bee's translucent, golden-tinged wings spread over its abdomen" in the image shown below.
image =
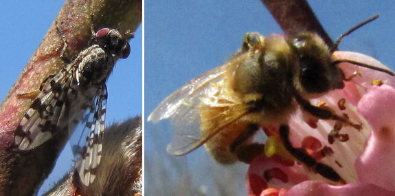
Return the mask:
<svg viewBox="0 0 395 196">
<path fill-rule="evenodd" d="M 224 129 L 228 124 L 232 124 L 239 118 L 229 115 L 223 118 L 221 114 L 213 118 L 221 118 L 221 126 L 214 130 L 204 126 L 206 122 L 201 122 L 201 110 L 227 109 L 241 111 L 243 109 L 239 102 L 232 100 L 232 96 L 226 94 L 225 85 L 229 85 L 229 78 L 234 70 L 249 57 L 249 54 L 236 56 L 227 63 L 194 78 L 189 83 L 174 91 L 150 114 L 148 121 L 158 122 L 165 118 L 171 118 L 174 126 L 172 142 L 168 146 L 168 152 L 172 155 L 185 155 Z M 223 102 L 225 100 L 225 102 Z M 204 107 L 204 108 L 203 108 Z M 202 134 L 203 133 L 203 134 Z"/>
</svg>

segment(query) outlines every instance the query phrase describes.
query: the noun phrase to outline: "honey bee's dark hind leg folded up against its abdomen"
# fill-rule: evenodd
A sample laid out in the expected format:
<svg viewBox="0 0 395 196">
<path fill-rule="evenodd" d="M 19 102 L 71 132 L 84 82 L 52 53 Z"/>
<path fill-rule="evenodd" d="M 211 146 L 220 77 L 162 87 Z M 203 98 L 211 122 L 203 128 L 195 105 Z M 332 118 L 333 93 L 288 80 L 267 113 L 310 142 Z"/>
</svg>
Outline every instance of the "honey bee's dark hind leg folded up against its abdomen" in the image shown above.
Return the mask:
<svg viewBox="0 0 395 196">
<path fill-rule="evenodd" d="M 258 124 L 249 124 L 247 129 L 243 131 L 230 145 L 230 151 L 237 155 L 238 160 L 249 164 L 254 157 L 263 153 L 264 144 L 244 144 L 244 142 L 251 138 L 251 136 L 253 136 L 256 131 L 258 131 L 258 129 Z"/>
</svg>

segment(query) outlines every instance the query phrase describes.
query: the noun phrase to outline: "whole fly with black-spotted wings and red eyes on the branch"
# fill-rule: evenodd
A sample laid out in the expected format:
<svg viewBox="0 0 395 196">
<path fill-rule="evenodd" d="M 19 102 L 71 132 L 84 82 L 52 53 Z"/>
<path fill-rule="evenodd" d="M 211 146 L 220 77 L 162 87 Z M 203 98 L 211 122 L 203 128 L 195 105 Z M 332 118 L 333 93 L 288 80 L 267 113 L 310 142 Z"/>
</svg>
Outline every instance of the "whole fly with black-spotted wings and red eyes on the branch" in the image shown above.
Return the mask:
<svg viewBox="0 0 395 196">
<path fill-rule="evenodd" d="M 43 81 L 40 93 L 19 122 L 15 144 L 30 150 L 43 144 L 68 126 L 69 135 L 78 124 L 89 129 L 82 159 L 78 163 L 81 181 L 89 186 L 100 164 L 102 138 L 106 115 L 106 79 L 118 58 L 130 53 L 128 39 L 133 33 L 120 34 L 103 28 L 93 32 L 93 44 L 58 74 Z"/>
</svg>

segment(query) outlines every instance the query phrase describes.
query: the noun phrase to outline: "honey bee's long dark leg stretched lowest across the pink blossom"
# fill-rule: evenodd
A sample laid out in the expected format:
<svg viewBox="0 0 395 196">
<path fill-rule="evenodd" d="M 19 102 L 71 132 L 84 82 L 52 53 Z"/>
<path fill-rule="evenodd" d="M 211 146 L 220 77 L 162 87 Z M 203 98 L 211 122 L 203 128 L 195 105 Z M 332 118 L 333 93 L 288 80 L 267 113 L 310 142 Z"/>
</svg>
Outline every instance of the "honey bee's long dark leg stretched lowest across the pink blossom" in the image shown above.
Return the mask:
<svg viewBox="0 0 395 196">
<path fill-rule="evenodd" d="M 344 179 L 340 177 L 340 175 L 330 166 L 327 166 L 326 164 L 321 164 L 315 160 L 315 158 L 311 157 L 311 155 L 308 155 L 303 149 L 297 149 L 292 146 L 291 142 L 289 141 L 289 126 L 288 125 L 281 125 L 280 126 L 280 138 L 282 140 L 282 143 L 284 144 L 284 147 L 291 155 L 293 155 L 297 160 L 300 162 L 306 164 L 306 166 L 309 166 L 313 168 L 313 170 L 323 177 L 330 179 L 334 182 L 340 182 L 341 184 L 346 184 Z"/>
</svg>

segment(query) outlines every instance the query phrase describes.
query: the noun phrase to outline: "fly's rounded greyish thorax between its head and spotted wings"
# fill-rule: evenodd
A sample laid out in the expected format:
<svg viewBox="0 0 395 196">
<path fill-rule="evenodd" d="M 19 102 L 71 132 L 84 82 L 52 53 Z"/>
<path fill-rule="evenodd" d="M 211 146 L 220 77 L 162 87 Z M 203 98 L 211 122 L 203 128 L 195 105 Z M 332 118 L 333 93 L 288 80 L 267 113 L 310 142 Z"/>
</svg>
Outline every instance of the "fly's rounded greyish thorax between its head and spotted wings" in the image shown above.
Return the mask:
<svg viewBox="0 0 395 196">
<path fill-rule="evenodd" d="M 78 85 L 104 83 L 117 61 L 116 56 L 112 56 L 99 45 L 87 48 L 78 58 L 80 58 L 76 71 Z"/>
</svg>

